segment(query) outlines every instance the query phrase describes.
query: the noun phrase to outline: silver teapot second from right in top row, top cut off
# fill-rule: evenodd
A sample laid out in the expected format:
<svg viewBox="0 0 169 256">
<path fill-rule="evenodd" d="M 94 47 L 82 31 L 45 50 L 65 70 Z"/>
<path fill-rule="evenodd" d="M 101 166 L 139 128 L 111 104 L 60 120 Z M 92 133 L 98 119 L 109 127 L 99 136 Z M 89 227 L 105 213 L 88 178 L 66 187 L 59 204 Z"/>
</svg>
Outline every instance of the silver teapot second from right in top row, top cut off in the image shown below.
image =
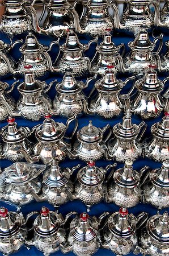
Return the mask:
<svg viewBox="0 0 169 256">
<path fill-rule="evenodd" d="M 155 0 L 128 0 L 126 9 L 118 20 L 117 28 L 136 34 L 142 24 L 145 24 L 147 30 L 153 28 L 158 20 L 158 3 Z M 154 7 L 154 14 L 151 11 L 151 5 Z M 117 16 L 118 18 L 118 16 Z"/>
</svg>

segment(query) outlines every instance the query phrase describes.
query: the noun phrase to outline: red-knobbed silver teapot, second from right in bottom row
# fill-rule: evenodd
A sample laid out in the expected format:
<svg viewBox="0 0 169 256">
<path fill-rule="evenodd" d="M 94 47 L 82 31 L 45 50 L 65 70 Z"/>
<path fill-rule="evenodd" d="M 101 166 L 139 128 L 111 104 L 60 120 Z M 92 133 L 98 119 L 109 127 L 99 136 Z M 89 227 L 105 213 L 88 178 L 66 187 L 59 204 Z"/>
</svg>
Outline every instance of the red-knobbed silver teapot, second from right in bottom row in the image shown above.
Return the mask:
<svg viewBox="0 0 169 256">
<path fill-rule="evenodd" d="M 119 212 L 109 216 L 102 228 L 103 248 L 119 256 L 135 253 L 138 245 L 137 230 L 145 225 L 147 218 L 145 212 L 135 217 L 125 207 L 120 208 Z"/>
</svg>

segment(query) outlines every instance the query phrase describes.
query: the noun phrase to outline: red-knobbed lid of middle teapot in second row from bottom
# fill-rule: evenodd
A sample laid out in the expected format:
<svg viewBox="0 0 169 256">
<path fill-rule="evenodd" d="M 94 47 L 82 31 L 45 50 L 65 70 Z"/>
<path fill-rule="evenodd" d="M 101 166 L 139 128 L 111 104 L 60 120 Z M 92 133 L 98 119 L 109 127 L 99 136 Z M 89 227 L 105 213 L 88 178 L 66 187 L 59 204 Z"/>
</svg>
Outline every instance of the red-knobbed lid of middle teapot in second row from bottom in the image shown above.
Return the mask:
<svg viewBox="0 0 169 256">
<path fill-rule="evenodd" d="M 95 166 L 94 161 L 88 162 L 87 166 L 79 170 L 77 175 L 79 183 L 88 187 L 97 186 L 103 183 L 104 177 L 105 175 L 103 171 Z"/>
</svg>

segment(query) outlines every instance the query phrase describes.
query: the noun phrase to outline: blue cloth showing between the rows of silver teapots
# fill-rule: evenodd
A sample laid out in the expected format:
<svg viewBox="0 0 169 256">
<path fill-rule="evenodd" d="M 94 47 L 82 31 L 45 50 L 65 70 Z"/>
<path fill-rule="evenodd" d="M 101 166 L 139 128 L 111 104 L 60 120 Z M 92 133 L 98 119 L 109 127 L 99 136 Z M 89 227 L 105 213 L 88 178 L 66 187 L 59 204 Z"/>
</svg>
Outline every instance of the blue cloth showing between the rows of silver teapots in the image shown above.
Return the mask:
<svg viewBox="0 0 169 256">
<path fill-rule="evenodd" d="M 157 34 L 159 34 L 160 31 L 157 32 Z M 45 44 L 46 46 L 49 46 L 50 42 L 53 41 L 53 38 L 50 38 L 48 36 L 43 36 L 43 35 L 37 35 L 37 38 L 39 39 L 39 42 L 41 44 Z M 18 39 L 18 38 L 17 38 Z M 91 38 L 88 38 L 87 36 L 80 36 L 81 39 L 81 43 L 87 43 Z M 124 32 L 115 32 L 113 33 L 112 36 L 112 40 L 113 42 L 118 45 L 120 43 L 124 43 L 126 46 L 126 52 L 129 51 L 129 48 L 127 46 L 127 43 L 131 40 L 133 40 L 133 36 L 132 35 L 127 35 L 124 34 Z M 6 38 L 5 35 L 1 34 L 1 40 L 4 40 L 5 42 L 9 42 L 9 39 Z M 65 39 L 62 39 L 61 44 L 64 42 Z M 151 40 L 153 40 L 153 38 L 151 37 Z M 166 42 L 167 40 L 169 40 L 169 35 L 168 32 L 166 31 L 163 42 Z M 101 42 L 102 40 L 100 40 L 99 42 Z M 94 55 L 95 52 L 95 44 L 92 44 L 91 48 L 89 51 L 85 52 L 85 55 L 88 57 L 92 57 Z M 20 52 L 19 52 L 19 45 L 16 46 L 14 49 L 12 49 L 11 51 L 11 55 L 14 57 L 14 59 L 16 61 L 19 60 L 20 57 Z M 162 52 L 166 51 L 166 46 L 163 46 Z M 57 52 L 58 52 L 58 47 L 54 46 L 52 48 L 52 52 L 50 52 L 50 56 L 52 57 L 52 59 L 56 59 L 57 56 Z M 127 77 L 129 76 L 129 74 L 125 74 L 119 75 L 119 78 L 122 80 L 125 80 Z M 159 79 L 164 79 L 164 77 L 167 76 L 167 73 L 163 73 L 163 74 L 159 74 Z M 23 81 L 22 77 L 19 77 L 20 82 Z M 49 84 L 50 81 L 57 79 L 57 81 L 61 81 L 62 80 L 62 75 L 54 73 L 49 75 L 49 77 L 45 80 L 47 81 L 47 83 Z M 83 81 L 85 81 L 86 79 L 83 79 Z M 8 82 L 10 85 L 12 84 L 12 82 L 14 82 L 14 80 L 12 79 L 12 77 L 8 77 L 6 79 L 2 79 L 2 81 L 6 81 Z M 84 90 L 84 92 L 86 94 L 88 94 L 92 88 L 92 86 L 94 85 L 94 81 L 92 81 L 89 85 L 89 87 L 87 89 Z M 122 93 L 127 93 L 131 87 L 132 83 L 129 82 L 128 85 L 125 86 L 125 89 L 122 90 Z M 166 84 L 166 88 L 168 88 L 168 83 Z M 50 89 L 49 91 L 49 96 L 50 98 L 54 98 L 54 96 L 56 95 L 56 90 L 55 90 L 55 85 L 52 86 L 52 89 Z M 15 87 L 14 91 L 11 93 L 12 97 L 15 98 L 15 100 L 17 101 L 19 98 L 19 93 L 17 90 L 17 86 Z M 159 122 L 163 117 L 163 114 L 160 115 L 160 117 L 155 118 L 155 119 L 151 119 L 150 121 L 146 121 L 147 123 L 147 130 L 146 130 L 146 134 L 145 137 L 150 137 L 151 133 L 150 133 L 150 127 L 151 125 L 153 125 L 153 123 L 155 122 Z M 61 118 L 61 117 L 53 117 L 54 120 L 56 120 L 57 122 L 64 122 L 66 123 L 66 119 L 65 118 Z M 120 117 L 117 118 L 112 118 L 110 120 L 107 119 L 102 119 L 97 117 L 96 115 L 83 115 L 82 117 L 79 117 L 79 126 L 78 129 L 81 129 L 81 127 L 88 125 L 88 121 L 92 119 L 92 123 L 93 125 L 97 126 L 97 127 L 104 127 L 105 125 L 107 125 L 107 123 L 109 123 L 111 125 L 111 127 L 113 127 L 116 123 L 121 122 L 122 120 L 122 115 L 120 115 Z M 18 123 L 18 126 L 28 126 L 30 129 L 37 125 L 38 123 L 42 123 L 44 119 L 41 119 L 40 121 L 29 121 L 27 119 L 23 119 L 23 118 L 16 118 L 16 122 Z M 141 118 L 133 115 L 132 117 L 132 121 L 133 123 L 140 123 L 142 120 Z M 7 125 L 6 121 L 1 122 L 1 127 Z M 70 127 L 71 129 L 71 127 Z M 70 133 L 70 131 L 69 131 Z M 144 138 L 145 138 L 144 137 Z M 70 160 L 70 159 L 65 159 L 64 162 L 61 162 L 61 167 L 73 167 L 76 166 L 78 163 L 81 164 L 81 167 L 85 166 L 86 164 L 83 163 L 81 160 L 75 159 L 75 160 Z M 107 164 L 113 163 L 112 161 L 105 161 L 105 160 L 99 160 L 98 162 L 96 162 L 97 166 L 102 166 L 105 167 L 107 166 Z M 1 160 L 1 168 L 2 170 L 8 166 L 10 166 L 10 164 L 12 164 L 12 162 L 10 162 L 9 160 Z M 117 164 L 117 168 L 122 167 L 124 164 L 122 163 L 118 163 Z M 142 167 L 144 166 L 150 166 L 150 168 L 159 168 L 161 166 L 160 163 L 155 163 L 153 160 L 150 159 L 138 159 L 136 160 L 136 162 L 134 162 L 133 166 L 134 166 L 134 170 L 140 171 Z M 77 171 L 75 171 L 75 174 L 77 174 Z M 72 179 L 75 179 L 75 174 L 73 175 Z M 2 206 L 7 207 L 9 210 L 16 210 L 15 207 L 13 207 L 12 205 L 8 205 L 6 203 L 1 202 Z M 29 205 L 26 205 L 25 207 L 22 208 L 22 212 L 24 214 L 24 216 L 26 216 L 26 214 L 28 214 L 29 212 L 31 212 L 32 210 L 39 210 L 41 209 L 41 207 L 45 205 L 46 207 L 48 207 L 50 210 L 54 210 L 54 207 L 52 205 L 49 205 L 47 202 L 43 202 L 43 203 L 36 203 L 33 202 Z M 62 205 L 60 207 L 60 212 L 63 214 L 63 216 L 65 216 L 65 214 L 69 213 L 70 211 L 75 210 L 78 213 L 82 213 L 84 211 L 86 211 L 86 207 L 83 203 L 81 203 L 80 201 L 72 201 L 69 202 L 65 205 Z M 100 216 L 100 214 L 102 214 L 103 212 L 116 212 L 119 210 L 119 207 L 117 207 L 115 204 L 107 204 L 104 203 L 104 201 L 102 201 L 101 203 L 99 203 L 98 205 L 95 205 L 94 207 L 91 208 L 90 211 L 90 215 L 91 216 Z M 167 209 L 169 210 L 169 209 Z M 153 214 L 157 213 L 157 209 L 154 208 L 153 206 L 149 205 L 149 204 L 138 204 L 136 207 L 130 208 L 129 209 L 129 213 L 134 213 L 136 216 L 137 214 L 141 213 L 142 211 L 148 212 L 150 214 L 150 216 L 152 216 Z M 160 213 L 164 212 L 164 210 L 161 210 Z M 0 255 L 2 255 L 0 253 Z M 30 256 L 36 256 L 36 255 L 43 255 L 43 253 L 41 253 L 40 251 L 38 251 L 35 247 L 31 247 L 30 250 L 27 250 L 26 247 L 22 247 L 22 249 L 20 249 L 18 251 L 18 253 L 16 253 L 15 255 L 17 256 L 21 256 L 21 255 L 30 255 Z M 58 251 L 57 253 L 54 253 L 52 255 L 62 255 L 61 251 Z M 74 255 L 73 253 L 68 253 L 67 255 Z M 110 250 L 105 250 L 105 249 L 99 249 L 98 252 L 95 254 L 96 256 L 98 255 L 113 255 L 113 253 Z M 132 253 L 130 255 L 133 255 Z"/>
</svg>

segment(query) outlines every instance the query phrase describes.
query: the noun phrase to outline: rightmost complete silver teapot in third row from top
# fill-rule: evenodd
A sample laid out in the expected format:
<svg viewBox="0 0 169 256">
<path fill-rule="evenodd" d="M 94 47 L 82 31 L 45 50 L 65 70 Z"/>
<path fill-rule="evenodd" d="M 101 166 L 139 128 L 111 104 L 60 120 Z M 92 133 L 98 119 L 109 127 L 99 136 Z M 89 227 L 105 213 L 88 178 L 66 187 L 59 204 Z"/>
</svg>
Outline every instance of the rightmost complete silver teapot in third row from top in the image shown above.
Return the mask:
<svg viewBox="0 0 169 256">
<path fill-rule="evenodd" d="M 135 88 L 137 89 L 137 94 L 132 101 L 132 112 L 143 119 L 158 117 L 165 108 L 161 94 L 164 90 L 164 83 L 158 79 L 156 67 L 156 65 L 149 65 L 145 76 L 137 80 L 129 92 L 130 95 Z"/>
</svg>

